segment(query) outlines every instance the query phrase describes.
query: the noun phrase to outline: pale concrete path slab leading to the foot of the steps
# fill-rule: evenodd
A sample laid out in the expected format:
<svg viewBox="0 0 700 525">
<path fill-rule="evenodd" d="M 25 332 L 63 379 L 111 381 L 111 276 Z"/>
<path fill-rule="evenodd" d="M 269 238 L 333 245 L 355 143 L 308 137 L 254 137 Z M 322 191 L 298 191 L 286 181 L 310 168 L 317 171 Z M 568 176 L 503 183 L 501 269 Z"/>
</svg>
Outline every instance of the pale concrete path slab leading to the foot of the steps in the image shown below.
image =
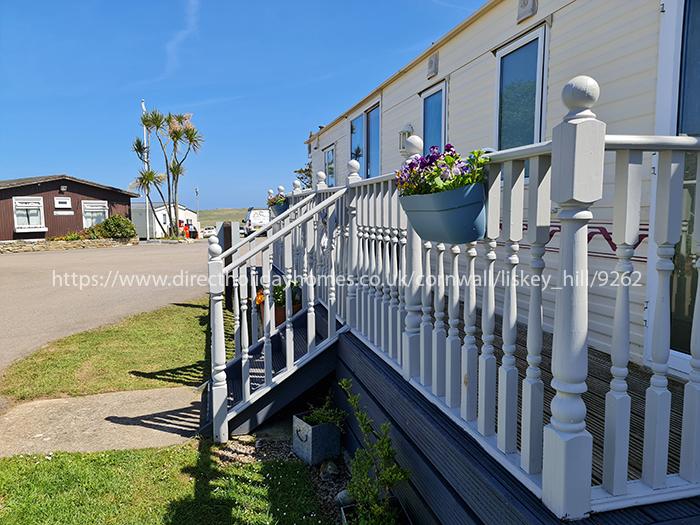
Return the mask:
<svg viewBox="0 0 700 525">
<path fill-rule="evenodd" d="M 191 387 L 22 403 L 0 415 L 0 457 L 182 443 L 200 427 L 200 405 Z"/>
</svg>

